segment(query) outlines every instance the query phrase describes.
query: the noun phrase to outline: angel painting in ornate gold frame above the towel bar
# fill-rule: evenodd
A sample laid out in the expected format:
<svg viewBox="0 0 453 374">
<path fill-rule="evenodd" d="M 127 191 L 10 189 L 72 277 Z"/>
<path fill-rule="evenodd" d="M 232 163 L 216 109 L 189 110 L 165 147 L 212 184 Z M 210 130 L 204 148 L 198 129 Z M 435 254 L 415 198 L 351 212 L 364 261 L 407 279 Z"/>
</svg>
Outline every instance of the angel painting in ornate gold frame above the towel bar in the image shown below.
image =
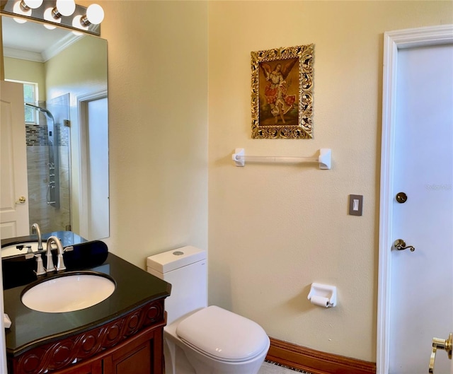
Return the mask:
<svg viewBox="0 0 453 374">
<path fill-rule="evenodd" d="M 251 52 L 253 139 L 313 138 L 313 55 L 313 44 Z"/>
</svg>

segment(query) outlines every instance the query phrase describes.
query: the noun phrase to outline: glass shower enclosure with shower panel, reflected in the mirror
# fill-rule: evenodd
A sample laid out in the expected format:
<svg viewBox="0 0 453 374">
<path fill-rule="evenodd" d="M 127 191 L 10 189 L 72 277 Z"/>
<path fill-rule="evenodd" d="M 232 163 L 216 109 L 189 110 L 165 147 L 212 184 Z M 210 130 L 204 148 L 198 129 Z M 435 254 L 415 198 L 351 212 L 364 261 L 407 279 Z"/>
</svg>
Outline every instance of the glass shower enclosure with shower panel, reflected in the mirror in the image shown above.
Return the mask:
<svg viewBox="0 0 453 374">
<path fill-rule="evenodd" d="M 25 124 L 30 223 L 43 232 L 71 230 L 69 94 L 25 107 L 38 119 Z"/>
</svg>

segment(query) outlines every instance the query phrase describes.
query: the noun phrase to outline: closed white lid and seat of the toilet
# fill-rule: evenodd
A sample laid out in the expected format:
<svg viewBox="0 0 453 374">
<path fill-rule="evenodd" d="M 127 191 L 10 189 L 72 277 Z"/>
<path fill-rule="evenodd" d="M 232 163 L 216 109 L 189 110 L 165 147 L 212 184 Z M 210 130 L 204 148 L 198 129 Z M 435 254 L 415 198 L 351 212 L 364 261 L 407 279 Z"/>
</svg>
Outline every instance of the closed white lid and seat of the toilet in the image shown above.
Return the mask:
<svg viewBox="0 0 453 374">
<path fill-rule="evenodd" d="M 219 361 L 248 361 L 268 349 L 269 338 L 256 322 L 217 306 L 195 312 L 176 328 L 193 349 Z"/>
</svg>

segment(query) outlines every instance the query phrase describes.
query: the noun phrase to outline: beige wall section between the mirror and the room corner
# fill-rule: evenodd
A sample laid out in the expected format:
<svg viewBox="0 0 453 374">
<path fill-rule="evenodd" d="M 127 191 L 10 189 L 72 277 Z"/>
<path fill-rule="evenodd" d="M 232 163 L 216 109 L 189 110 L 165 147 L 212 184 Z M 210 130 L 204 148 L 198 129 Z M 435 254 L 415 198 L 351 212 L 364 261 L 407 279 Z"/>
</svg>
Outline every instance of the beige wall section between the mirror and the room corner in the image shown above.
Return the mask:
<svg viewBox="0 0 453 374">
<path fill-rule="evenodd" d="M 164 250 L 207 249 L 207 3 L 100 4 L 108 40 L 106 242 L 144 269 L 147 256 Z"/>
</svg>

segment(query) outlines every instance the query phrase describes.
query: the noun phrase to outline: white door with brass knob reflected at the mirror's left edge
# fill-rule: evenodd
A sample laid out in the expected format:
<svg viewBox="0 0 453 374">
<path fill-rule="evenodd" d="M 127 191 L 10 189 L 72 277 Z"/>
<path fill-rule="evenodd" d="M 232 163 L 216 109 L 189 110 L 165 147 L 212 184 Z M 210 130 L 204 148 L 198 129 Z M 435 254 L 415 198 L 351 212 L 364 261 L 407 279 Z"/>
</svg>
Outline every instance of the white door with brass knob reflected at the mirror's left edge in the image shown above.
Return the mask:
<svg viewBox="0 0 453 374">
<path fill-rule="evenodd" d="M 30 234 L 23 85 L 1 81 L 1 238 Z"/>
</svg>

